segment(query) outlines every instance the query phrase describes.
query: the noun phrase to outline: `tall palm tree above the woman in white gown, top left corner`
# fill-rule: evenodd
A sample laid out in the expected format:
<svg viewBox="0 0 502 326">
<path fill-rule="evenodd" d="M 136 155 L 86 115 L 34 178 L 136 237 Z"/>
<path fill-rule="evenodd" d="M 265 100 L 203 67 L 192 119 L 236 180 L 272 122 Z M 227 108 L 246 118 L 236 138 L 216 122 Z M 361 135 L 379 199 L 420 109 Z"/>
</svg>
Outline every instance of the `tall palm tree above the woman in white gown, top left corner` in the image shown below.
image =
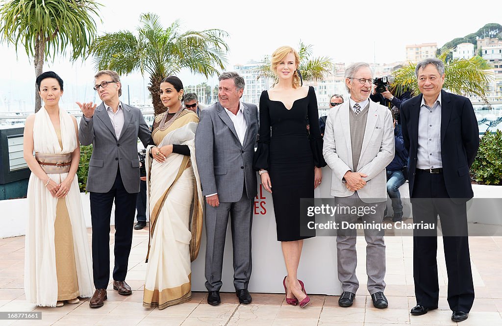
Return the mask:
<svg viewBox="0 0 502 326">
<path fill-rule="evenodd" d="M 101 6 L 93 0 L 11 0 L 0 8 L 0 40 L 23 46 L 34 59 L 35 76 L 42 73 L 44 61 L 72 49 L 71 59 L 85 58 L 96 36 L 96 23 Z M 35 112 L 41 98 L 35 86 Z"/>
</svg>

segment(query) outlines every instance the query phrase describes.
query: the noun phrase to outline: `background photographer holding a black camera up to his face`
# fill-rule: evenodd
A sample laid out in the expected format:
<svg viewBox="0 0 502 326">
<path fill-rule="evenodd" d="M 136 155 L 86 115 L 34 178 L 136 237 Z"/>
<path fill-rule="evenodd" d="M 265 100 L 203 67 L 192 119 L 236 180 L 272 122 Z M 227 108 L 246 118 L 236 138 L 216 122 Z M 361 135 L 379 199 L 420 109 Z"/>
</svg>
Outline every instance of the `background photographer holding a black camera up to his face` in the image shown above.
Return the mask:
<svg viewBox="0 0 502 326">
<path fill-rule="evenodd" d="M 373 91 L 371 92 L 371 95 L 369 95 L 369 99 L 373 102 L 389 107 L 396 117 L 398 129 L 401 129 L 401 104 L 411 98 L 411 90 L 406 89 L 399 96 L 394 96 L 394 90 L 389 90 L 389 86 L 393 80 L 393 76 L 375 78 L 373 80 Z"/>
</svg>

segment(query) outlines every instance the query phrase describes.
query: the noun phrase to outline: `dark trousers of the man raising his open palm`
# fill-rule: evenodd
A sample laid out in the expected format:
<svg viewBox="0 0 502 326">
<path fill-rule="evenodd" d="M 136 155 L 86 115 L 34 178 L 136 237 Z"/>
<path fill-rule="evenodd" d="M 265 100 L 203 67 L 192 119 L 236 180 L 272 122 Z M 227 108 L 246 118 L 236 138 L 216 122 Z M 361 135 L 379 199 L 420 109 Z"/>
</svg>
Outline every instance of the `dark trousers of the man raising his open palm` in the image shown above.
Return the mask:
<svg viewBox="0 0 502 326">
<path fill-rule="evenodd" d="M 115 200 L 115 243 L 113 280 L 124 281 L 133 242 L 133 225 L 138 193 L 124 188 L 120 170 L 108 192 L 90 192 L 92 222 L 92 271 L 96 289 L 110 281 L 110 214 Z"/>
</svg>

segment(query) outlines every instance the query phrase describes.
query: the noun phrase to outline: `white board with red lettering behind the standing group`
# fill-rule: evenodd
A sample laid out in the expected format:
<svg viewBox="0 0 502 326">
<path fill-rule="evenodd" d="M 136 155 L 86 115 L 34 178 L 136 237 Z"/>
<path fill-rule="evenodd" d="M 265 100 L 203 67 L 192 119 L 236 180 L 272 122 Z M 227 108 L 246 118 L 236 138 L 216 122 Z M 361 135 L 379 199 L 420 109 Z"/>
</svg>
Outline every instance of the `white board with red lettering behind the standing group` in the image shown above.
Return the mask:
<svg viewBox="0 0 502 326">
<path fill-rule="evenodd" d="M 316 198 L 328 198 L 331 170 L 323 168 L 323 181 L 315 190 Z M 258 177 L 258 180 L 260 178 Z M 286 266 L 277 241 L 276 221 L 272 195 L 261 184 L 255 198 L 253 217 L 253 271 L 248 290 L 259 293 L 284 293 L 282 284 L 286 276 Z M 192 291 L 207 291 L 204 283 L 206 237 L 205 226 L 198 258 L 192 263 Z M 298 278 L 305 283 L 308 294 L 340 295 L 341 284 L 337 276 L 336 238 L 315 237 L 304 240 Z M 223 257 L 222 292 L 235 292 L 233 287 L 232 237 L 230 225 L 227 227 L 225 253 Z"/>
</svg>

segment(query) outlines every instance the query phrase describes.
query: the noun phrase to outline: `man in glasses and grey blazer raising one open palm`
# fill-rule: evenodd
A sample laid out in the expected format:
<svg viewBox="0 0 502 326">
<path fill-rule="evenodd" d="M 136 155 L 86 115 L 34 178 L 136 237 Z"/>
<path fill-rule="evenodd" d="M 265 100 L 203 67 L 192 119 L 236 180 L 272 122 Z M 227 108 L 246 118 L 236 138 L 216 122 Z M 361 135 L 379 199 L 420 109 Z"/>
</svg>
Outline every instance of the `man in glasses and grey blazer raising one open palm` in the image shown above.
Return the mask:
<svg viewBox="0 0 502 326">
<path fill-rule="evenodd" d="M 150 130 L 139 108 L 120 102 L 119 76 L 102 70 L 94 76 L 94 90 L 103 101 L 79 103 L 82 119 L 78 137 L 82 145 L 93 145 L 86 189 L 90 192 L 92 222 L 92 269 L 96 291 L 91 308 L 103 305 L 110 279 L 110 214 L 115 201 L 115 243 L 113 289 L 132 294 L 126 283 L 129 253 L 133 241 L 136 196 L 140 191 L 138 137 L 145 147 Z"/>
</svg>

